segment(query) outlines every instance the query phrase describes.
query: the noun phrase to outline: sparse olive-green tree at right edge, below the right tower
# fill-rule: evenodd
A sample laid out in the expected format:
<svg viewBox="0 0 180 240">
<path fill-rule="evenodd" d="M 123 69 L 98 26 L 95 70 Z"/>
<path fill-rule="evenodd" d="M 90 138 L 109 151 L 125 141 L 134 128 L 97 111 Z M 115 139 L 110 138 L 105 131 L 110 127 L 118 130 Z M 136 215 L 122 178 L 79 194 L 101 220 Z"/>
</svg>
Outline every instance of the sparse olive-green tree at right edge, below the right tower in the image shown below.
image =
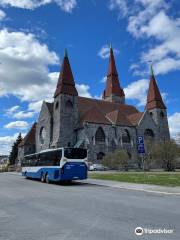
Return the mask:
<svg viewBox="0 0 180 240">
<path fill-rule="evenodd" d="M 174 171 L 180 147 L 174 140 L 160 142 L 152 149 L 152 157 L 166 171 Z"/>
</svg>

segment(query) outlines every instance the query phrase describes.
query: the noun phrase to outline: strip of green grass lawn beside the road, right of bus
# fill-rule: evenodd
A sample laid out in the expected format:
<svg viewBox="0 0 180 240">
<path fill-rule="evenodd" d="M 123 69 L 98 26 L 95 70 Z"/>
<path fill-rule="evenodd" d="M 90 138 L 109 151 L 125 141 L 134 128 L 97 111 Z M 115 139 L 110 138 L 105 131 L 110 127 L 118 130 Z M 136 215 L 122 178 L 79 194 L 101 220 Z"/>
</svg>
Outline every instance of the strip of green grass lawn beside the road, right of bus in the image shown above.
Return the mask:
<svg viewBox="0 0 180 240">
<path fill-rule="evenodd" d="M 180 172 L 91 172 L 89 178 L 172 187 L 180 186 Z"/>
</svg>

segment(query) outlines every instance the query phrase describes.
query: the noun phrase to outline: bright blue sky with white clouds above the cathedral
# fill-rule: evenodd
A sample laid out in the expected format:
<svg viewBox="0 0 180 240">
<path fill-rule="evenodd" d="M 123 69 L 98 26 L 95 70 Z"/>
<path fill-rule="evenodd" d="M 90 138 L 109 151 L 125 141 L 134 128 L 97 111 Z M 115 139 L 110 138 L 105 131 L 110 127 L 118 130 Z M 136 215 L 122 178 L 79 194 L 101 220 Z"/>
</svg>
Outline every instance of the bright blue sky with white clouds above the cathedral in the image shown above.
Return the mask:
<svg viewBox="0 0 180 240">
<path fill-rule="evenodd" d="M 0 154 L 53 101 L 67 48 L 81 96 L 101 98 L 114 49 L 126 103 L 144 110 L 150 64 L 180 132 L 179 0 L 0 0 Z"/>
</svg>

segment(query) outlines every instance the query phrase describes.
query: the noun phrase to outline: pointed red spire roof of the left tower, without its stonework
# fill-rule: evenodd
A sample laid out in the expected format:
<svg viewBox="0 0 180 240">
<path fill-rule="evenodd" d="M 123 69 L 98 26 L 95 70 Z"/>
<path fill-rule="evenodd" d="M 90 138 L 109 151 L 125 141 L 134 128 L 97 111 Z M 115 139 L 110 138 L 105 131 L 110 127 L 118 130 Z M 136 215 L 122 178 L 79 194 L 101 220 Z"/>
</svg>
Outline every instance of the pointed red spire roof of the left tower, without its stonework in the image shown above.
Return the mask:
<svg viewBox="0 0 180 240">
<path fill-rule="evenodd" d="M 66 49 L 54 97 L 57 97 L 61 93 L 74 96 L 78 95 Z"/>
</svg>

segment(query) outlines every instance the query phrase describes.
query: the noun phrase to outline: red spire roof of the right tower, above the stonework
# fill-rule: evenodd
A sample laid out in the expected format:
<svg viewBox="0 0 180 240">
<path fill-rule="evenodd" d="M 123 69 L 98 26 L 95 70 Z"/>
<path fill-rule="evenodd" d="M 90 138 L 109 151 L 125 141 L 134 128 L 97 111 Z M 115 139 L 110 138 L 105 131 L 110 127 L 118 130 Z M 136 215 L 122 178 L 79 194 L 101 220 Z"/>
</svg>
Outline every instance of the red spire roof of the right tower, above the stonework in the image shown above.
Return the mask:
<svg viewBox="0 0 180 240">
<path fill-rule="evenodd" d="M 154 108 L 166 109 L 166 106 L 162 100 L 161 93 L 159 91 L 159 88 L 154 76 L 153 67 L 151 65 L 151 75 L 150 75 L 146 109 L 151 110 Z"/>
</svg>

